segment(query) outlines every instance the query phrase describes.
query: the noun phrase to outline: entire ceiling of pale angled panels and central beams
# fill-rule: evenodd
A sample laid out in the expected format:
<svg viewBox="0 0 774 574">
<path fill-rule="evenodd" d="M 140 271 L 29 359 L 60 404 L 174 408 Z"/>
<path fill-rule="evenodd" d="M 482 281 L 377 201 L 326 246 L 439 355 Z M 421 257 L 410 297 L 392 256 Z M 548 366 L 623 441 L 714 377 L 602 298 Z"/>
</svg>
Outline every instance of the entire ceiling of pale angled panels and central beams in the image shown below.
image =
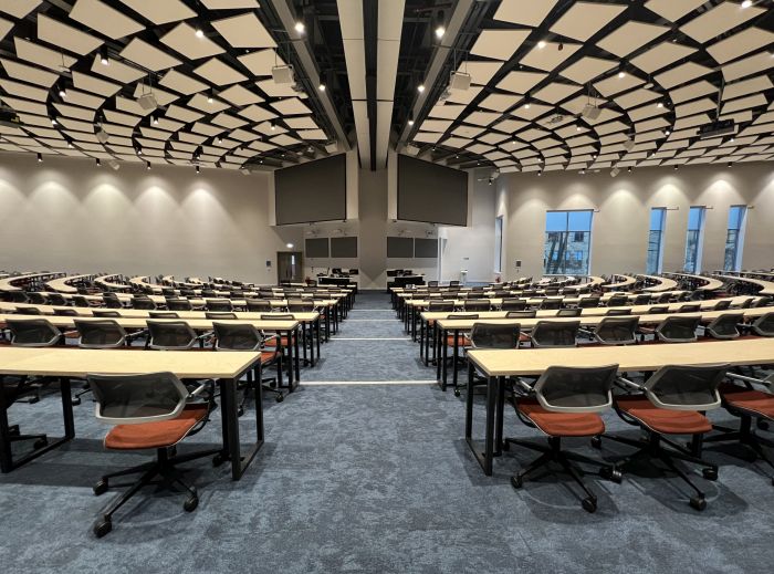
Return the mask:
<svg viewBox="0 0 774 574">
<path fill-rule="evenodd" d="M 772 7 L 0 0 L 0 150 L 231 169 L 351 146 L 370 169 L 396 148 L 501 171 L 768 160 Z M 272 79 L 285 63 L 293 86 Z M 470 88 L 448 90 L 454 71 Z M 733 133 L 700 138 L 718 118 Z"/>
</svg>

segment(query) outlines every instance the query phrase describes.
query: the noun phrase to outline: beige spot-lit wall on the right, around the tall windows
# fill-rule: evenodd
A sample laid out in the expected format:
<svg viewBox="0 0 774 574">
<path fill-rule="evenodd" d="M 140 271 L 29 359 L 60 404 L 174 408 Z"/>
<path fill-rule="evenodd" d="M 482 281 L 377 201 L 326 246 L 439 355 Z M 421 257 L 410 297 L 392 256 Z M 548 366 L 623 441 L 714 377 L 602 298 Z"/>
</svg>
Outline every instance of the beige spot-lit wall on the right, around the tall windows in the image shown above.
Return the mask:
<svg viewBox="0 0 774 574">
<path fill-rule="evenodd" d="M 506 278 L 541 275 L 545 212 L 595 209 L 592 230 L 593 274 L 644 272 L 650 208 L 668 207 L 663 270 L 682 268 L 688 209 L 707 211 L 702 269 L 722 267 L 729 207 L 752 206 L 747 213 L 743 268 L 774 265 L 774 165 L 642 168 L 611 178 L 608 170 L 504 174 L 498 179 L 495 213 L 504 217 Z M 516 270 L 514 261 L 523 267 Z"/>
</svg>

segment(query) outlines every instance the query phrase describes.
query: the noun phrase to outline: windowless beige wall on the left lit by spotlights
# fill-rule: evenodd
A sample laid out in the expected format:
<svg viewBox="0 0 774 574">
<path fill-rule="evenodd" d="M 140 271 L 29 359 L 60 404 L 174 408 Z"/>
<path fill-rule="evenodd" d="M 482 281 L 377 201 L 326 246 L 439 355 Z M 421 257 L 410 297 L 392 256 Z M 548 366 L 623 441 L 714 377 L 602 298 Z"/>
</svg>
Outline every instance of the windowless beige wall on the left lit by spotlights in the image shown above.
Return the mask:
<svg viewBox="0 0 774 574">
<path fill-rule="evenodd" d="M 0 269 L 276 282 L 297 228 L 269 226 L 269 176 L 0 155 Z M 266 260 L 272 262 L 266 268 Z"/>
</svg>

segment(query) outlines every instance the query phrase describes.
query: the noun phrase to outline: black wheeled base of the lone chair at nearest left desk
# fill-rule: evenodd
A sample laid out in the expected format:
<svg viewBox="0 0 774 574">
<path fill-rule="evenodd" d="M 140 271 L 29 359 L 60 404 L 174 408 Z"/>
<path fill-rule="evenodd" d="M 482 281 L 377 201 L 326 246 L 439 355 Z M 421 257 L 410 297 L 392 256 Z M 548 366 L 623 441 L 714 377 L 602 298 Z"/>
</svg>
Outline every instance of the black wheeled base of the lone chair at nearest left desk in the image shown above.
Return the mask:
<svg viewBox="0 0 774 574">
<path fill-rule="evenodd" d="M 171 451 L 171 457 L 170 457 L 170 451 Z M 205 458 L 205 457 L 210 457 L 212 455 L 219 455 L 221 452 L 220 449 L 211 449 L 211 450 L 202 450 L 202 451 L 197 451 L 197 452 L 191 452 L 188 455 L 182 455 L 182 456 L 176 456 L 176 449 L 175 447 L 171 447 L 170 449 L 167 448 L 159 448 L 156 449 L 156 460 L 146 462 L 144 465 L 138 465 L 136 467 L 127 468 L 124 470 L 119 470 L 117 472 L 111 472 L 109 474 L 104 474 L 97 482 L 94 484 L 93 490 L 94 494 L 102 495 L 111 487 L 109 480 L 118 477 L 126 477 L 129 474 L 136 474 L 142 472 L 143 474 L 137 479 L 133 484 L 129 486 L 129 489 L 123 492 L 118 498 L 113 500 L 107 507 L 105 507 L 102 512 L 100 512 L 100 515 L 97 520 L 94 522 L 94 525 L 92 526 L 92 530 L 94 532 L 94 535 L 98 539 L 103 538 L 107 533 L 109 533 L 113 530 L 113 514 L 121 509 L 126 502 L 128 502 L 137 492 L 140 491 L 143 487 L 146 487 L 148 484 L 163 484 L 166 488 L 174 488 L 178 487 L 181 489 L 184 492 L 188 493 L 188 498 L 186 499 L 186 502 L 184 503 L 182 508 L 186 510 L 186 512 L 194 512 L 196 508 L 199 505 L 199 495 L 197 493 L 196 487 L 186 484 L 179 476 L 179 471 L 175 468 L 177 465 L 182 465 L 185 462 L 196 460 L 199 458 Z M 156 477 L 160 477 L 160 480 L 154 481 Z M 114 487 L 125 487 L 127 484 L 115 484 Z"/>
</svg>

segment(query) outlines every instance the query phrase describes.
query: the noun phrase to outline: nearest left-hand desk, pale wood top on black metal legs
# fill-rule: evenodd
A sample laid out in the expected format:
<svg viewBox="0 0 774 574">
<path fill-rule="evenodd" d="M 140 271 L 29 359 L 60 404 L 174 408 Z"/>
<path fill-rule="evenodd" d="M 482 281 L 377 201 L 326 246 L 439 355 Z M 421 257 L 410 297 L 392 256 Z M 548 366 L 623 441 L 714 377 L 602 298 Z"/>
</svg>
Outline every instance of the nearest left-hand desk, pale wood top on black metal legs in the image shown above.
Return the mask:
<svg viewBox="0 0 774 574">
<path fill-rule="evenodd" d="M 0 376 L 45 376 L 59 377 L 62 382 L 62 414 L 64 436 L 51 445 L 36 450 L 23 459 L 14 461 L 8 429 L 8 405 L 0 393 L 0 461 L 2 472 L 10 472 L 59 447 L 75 436 L 73 406 L 70 395 L 70 378 L 85 378 L 90 373 L 127 375 L 169 371 L 179 378 L 218 380 L 221 390 L 221 417 L 223 452 L 231 460 L 231 477 L 239 480 L 263 445 L 263 403 L 260 376 L 260 353 L 187 353 L 167 351 L 164 353 L 142 353 L 123 349 L 75 349 L 63 347 L 45 348 L 0 348 Z M 239 438 L 239 400 L 237 382 L 248 371 L 258 368 L 253 384 L 255 392 L 255 429 L 258 438 L 247 453 L 241 451 Z"/>
</svg>

